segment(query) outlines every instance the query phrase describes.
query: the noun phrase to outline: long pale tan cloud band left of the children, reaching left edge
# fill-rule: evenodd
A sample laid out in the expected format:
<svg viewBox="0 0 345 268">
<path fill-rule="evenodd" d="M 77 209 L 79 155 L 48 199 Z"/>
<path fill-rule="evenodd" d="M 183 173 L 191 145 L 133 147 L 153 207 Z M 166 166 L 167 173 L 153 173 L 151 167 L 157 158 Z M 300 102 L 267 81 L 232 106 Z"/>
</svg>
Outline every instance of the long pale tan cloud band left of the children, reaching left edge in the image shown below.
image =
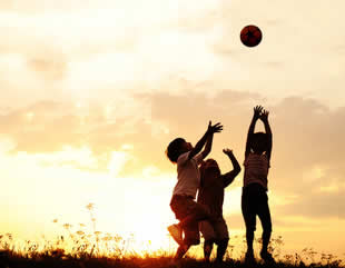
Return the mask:
<svg viewBox="0 0 345 268">
<path fill-rule="evenodd" d="M 47 100 L 4 110 L 0 115 L 1 139 L 11 141 L 12 155 L 23 151 L 34 156 L 60 153 L 66 148 L 76 151 L 89 148 L 92 159 L 97 160 L 89 170 L 95 171 L 108 169 L 114 151 L 126 151 L 128 161 L 119 175 L 139 173 L 144 167 L 165 160 L 165 148 L 155 146 L 165 129 L 151 125 L 144 106 L 131 101 L 128 106 L 122 103 L 121 108 L 121 99 L 118 101 L 100 107 Z M 77 159 L 70 158 L 55 163 L 81 167 Z"/>
</svg>

